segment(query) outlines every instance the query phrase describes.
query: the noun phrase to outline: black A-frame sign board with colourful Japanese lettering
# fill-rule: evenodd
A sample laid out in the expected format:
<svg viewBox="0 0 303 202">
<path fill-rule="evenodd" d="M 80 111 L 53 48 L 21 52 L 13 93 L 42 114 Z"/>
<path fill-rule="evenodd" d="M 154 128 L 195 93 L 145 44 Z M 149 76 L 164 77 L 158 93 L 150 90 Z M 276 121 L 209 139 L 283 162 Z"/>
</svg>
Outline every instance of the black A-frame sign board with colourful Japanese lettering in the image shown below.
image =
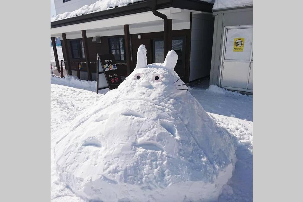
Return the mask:
<svg viewBox="0 0 303 202">
<path fill-rule="evenodd" d="M 109 90 L 118 88 L 121 82 L 114 55 L 97 54 L 97 94 L 104 88 L 109 88 Z"/>
</svg>

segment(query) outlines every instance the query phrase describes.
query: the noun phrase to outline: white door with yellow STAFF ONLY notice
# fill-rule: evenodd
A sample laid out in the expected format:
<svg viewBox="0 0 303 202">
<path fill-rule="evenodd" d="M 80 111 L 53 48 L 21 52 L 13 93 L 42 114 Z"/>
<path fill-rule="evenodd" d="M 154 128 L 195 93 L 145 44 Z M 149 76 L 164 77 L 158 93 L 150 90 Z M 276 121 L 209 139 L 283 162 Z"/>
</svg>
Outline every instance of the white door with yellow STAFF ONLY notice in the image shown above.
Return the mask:
<svg viewBox="0 0 303 202">
<path fill-rule="evenodd" d="M 221 87 L 252 92 L 252 26 L 225 28 Z"/>
</svg>

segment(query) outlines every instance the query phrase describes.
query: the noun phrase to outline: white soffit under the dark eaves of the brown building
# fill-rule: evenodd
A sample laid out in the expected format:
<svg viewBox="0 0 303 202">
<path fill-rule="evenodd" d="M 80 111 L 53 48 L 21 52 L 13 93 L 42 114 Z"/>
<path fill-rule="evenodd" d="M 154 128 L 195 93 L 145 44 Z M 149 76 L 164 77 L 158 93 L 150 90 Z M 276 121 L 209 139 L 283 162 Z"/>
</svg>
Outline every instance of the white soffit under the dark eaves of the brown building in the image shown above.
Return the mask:
<svg viewBox="0 0 303 202">
<path fill-rule="evenodd" d="M 193 12 L 193 11 L 180 9 L 180 8 L 165 8 L 165 9 L 160 9 L 158 11 L 165 14 L 168 18 L 173 19 L 173 30 L 189 28 L 190 12 Z M 132 23 L 130 23 L 130 22 L 132 22 Z M 188 22 L 188 23 L 184 23 L 184 22 Z M 176 23 L 179 23 L 179 26 L 177 26 Z M 152 32 L 153 28 L 156 31 L 163 31 L 163 19 L 155 16 L 151 11 L 149 11 L 149 12 L 142 12 L 142 13 L 137 13 L 137 14 L 132 14 L 132 15 L 125 15 L 125 16 L 121 16 L 121 17 L 108 18 L 108 19 L 96 20 L 96 21 L 92 21 L 92 22 L 85 22 L 85 23 L 80 23 L 80 24 L 75 24 L 75 25 L 67 25 L 67 26 L 63 26 L 63 27 L 52 28 L 51 36 L 53 37 L 53 36 L 57 36 L 58 34 L 61 35 L 61 33 L 66 33 L 67 38 L 68 38 L 68 32 L 80 31 L 80 33 L 81 33 L 81 30 L 86 30 L 87 36 L 92 37 L 92 36 L 89 36 L 88 33 L 90 33 L 90 31 L 94 32 L 93 30 L 96 30 L 96 29 L 98 29 L 98 32 L 99 31 L 103 32 L 103 31 L 107 30 L 109 35 L 112 35 L 110 33 L 114 30 L 115 30 L 114 31 L 115 33 L 120 33 L 121 31 L 123 31 L 123 32 L 121 32 L 121 34 L 124 34 L 123 25 L 130 25 L 130 34 L 143 33 L 142 32 L 143 30 L 145 30 L 145 31 L 148 30 L 147 32 Z M 136 25 L 137 25 L 137 27 L 136 27 Z M 140 27 L 140 25 L 145 25 L 145 26 Z M 162 30 L 159 30 L 160 28 L 158 26 L 162 26 Z M 117 29 L 117 27 L 120 27 L 120 28 Z M 144 27 L 145 27 L 145 29 L 142 29 Z M 148 27 L 148 29 L 146 29 L 146 27 Z M 105 28 L 105 30 L 104 30 L 104 28 Z M 120 31 L 117 31 L 117 30 L 120 30 Z M 140 30 L 142 30 L 142 31 L 140 31 Z M 105 32 L 107 32 L 107 31 L 105 31 Z M 104 34 L 102 34 L 102 35 L 105 36 Z M 108 34 L 107 34 L 107 36 L 108 36 Z M 75 34 L 71 33 L 71 37 L 74 37 L 72 35 L 75 35 Z M 120 34 L 115 34 L 115 35 L 120 35 Z"/>
</svg>

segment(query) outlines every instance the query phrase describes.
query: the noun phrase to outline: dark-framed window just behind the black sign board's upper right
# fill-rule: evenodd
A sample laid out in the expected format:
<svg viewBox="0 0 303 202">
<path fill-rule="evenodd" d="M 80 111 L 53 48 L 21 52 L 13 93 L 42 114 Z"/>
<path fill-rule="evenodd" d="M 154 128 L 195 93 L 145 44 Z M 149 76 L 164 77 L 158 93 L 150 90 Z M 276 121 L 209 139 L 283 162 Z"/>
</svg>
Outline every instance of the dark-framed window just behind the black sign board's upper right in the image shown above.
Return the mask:
<svg viewBox="0 0 303 202">
<path fill-rule="evenodd" d="M 124 37 L 109 38 L 109 52 L 112 53 L 116 61 L 125 61 Z"/>
</svg>

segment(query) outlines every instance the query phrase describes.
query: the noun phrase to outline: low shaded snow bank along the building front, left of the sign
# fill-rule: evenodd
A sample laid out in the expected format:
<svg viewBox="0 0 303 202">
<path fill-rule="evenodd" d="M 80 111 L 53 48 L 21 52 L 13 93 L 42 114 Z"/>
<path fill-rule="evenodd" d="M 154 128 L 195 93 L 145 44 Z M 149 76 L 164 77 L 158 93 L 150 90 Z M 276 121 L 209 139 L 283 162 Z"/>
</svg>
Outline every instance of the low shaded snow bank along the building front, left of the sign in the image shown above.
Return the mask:
<svg viewBox="0 0 303 202">
<path fill-rule="evenodd" d="M 53 69 L 54 71 L 54 69 Z M 61 74 L 61 73 L 59 73 Z M 85 81 L 78 79 L 76 76 L 65 75 L 65 78 L 60 78 L 51 75 L 51 83 L 58 85 L 71 86 L 75 88 L 81 88 L 88 91 L 96 91 L 96 81 Z"/>
</svg>

